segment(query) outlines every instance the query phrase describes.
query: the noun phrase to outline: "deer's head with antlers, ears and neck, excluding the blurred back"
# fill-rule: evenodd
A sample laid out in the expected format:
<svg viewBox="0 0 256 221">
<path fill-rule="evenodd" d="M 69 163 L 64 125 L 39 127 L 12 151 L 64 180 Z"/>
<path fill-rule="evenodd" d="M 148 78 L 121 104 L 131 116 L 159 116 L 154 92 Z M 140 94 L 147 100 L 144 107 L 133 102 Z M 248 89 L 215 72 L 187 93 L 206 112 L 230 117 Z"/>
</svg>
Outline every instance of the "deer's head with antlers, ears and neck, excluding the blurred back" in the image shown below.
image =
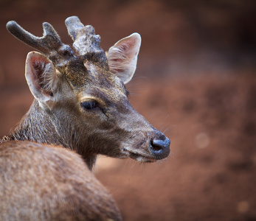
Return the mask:
<svg viewBox="0 0 256 221">
<path fill-rule="evenodd" d="M 141 162 L 166 158 L 170 140 L 134 110 L 125 88 L 136 69 L 140 35 L 104 52 L 100 35 L 75 16 L 66 19 L 72 46 L 63 44 L 50 24 L 43 27 L 38 38 L 15 21 L 7 23 L 16 38 L 42 53 L 27 55 L 26 79 L 35 102 L 13 137 L 62 144 L 90 167 L 97 154 Z M 32 129 L 26 126 L 31 121 Z"/>
</svg>

